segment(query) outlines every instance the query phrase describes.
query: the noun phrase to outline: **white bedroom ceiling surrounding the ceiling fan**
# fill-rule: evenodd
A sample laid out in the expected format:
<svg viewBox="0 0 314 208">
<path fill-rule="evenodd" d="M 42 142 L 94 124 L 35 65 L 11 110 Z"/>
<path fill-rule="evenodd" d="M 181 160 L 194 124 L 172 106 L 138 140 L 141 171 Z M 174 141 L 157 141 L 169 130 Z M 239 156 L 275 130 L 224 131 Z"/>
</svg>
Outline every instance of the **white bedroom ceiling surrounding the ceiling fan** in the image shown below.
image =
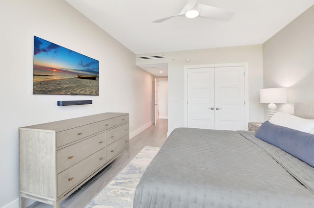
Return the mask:
<svg viewBox="0 0 314 208">
<path fill-rule="evenodd" d="M 229 22 L 175 17 L 187 0 L 65 0 L 135 54 L 262 44 L 314 0 L 199 0 L 233 11 Z"/>
</svg>

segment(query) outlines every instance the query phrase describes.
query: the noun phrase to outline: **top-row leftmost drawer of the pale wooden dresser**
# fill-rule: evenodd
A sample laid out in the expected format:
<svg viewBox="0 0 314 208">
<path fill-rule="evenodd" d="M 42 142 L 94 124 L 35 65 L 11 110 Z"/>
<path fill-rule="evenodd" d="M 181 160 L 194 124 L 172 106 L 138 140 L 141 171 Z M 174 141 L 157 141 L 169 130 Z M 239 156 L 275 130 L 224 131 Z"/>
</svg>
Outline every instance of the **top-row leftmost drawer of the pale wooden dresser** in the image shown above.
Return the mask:
<svg viewBox="0 0 314 208">
<path fill-rule="evenodd" d="M 57 132 L 57 147 L 61 147 L 78 139 L 88 137 L 93 133 L 93 124 L 88 124 L 62 132 Z"/>
</svg>

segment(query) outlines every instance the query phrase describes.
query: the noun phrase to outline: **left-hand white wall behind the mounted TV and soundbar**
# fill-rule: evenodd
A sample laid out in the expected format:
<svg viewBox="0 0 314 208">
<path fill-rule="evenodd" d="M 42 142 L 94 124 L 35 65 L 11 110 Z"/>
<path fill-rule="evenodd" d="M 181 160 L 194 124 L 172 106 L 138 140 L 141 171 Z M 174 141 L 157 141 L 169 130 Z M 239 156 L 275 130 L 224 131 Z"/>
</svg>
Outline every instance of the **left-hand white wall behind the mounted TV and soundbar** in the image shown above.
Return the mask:
<svg viewBox="0 0 314 208">
<path fill-rule="evenodd" d="M 0 208 L 18 208 L 18 127 L 129 112 L 131 134 L 154 120 L 154 76 L 135 55 L 64 0 L 0 1 Z M 99 96 L 33 95 L 33 36 L 99 60 Z M 92 105 L 56 106 L 92 99 Z"/>
</svg>

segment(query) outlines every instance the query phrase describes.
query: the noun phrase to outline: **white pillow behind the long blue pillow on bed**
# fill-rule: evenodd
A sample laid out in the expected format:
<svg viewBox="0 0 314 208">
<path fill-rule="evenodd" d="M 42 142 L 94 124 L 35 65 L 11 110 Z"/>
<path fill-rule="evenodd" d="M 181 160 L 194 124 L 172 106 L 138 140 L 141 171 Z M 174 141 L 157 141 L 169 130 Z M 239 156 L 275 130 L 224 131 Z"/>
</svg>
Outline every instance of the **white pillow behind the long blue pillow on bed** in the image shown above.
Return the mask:
<svg viewBox="0 0 314 208">
<path fill-rule="evenodd" d="M 277 112 L 270 118 L 269 122 L 301 132 L 314 134 L 314 119 L 306 119 L 287 113 Z"/>
</svg>

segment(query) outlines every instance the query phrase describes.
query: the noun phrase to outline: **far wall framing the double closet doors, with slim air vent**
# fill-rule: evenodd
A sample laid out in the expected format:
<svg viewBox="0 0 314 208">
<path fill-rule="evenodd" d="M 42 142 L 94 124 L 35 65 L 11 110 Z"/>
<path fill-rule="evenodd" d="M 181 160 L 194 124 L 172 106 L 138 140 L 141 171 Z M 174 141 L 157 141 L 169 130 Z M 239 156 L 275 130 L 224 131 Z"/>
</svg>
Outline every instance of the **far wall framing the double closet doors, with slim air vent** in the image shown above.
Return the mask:
<svg viewBox="0 0 314 208">
<path fill-rule="evenodd" d="M 168 134 L 184 127 L 184 66 L 223 63 L 248 63 L 249 121 L 263 120 L 260 89 L 263 88 L 262 45 L 175 51 L 139 56 L 165 55 L 164 59 L 137 60 L 136 64 L 168 63 Z M 186 58 L 190 58 L 186 62 Z"/>
</svg>

